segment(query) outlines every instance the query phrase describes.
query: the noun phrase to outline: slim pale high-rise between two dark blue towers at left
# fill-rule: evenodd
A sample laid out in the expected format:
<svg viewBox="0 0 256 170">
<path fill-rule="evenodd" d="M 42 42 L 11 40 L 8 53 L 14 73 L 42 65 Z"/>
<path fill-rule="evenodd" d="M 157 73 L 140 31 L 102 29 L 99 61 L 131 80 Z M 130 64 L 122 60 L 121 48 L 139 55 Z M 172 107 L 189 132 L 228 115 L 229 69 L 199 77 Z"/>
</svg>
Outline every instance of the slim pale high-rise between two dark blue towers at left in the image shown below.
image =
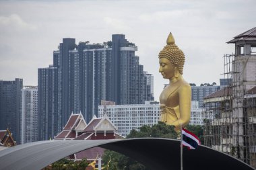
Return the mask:
<svg viewBox="0 0 256 170">
<path fill-rule="evenodd" d="M 22 89 L 21 144 L 38 140 L 38 91 L 37 87 L 24 86 Z"/>
</svg>

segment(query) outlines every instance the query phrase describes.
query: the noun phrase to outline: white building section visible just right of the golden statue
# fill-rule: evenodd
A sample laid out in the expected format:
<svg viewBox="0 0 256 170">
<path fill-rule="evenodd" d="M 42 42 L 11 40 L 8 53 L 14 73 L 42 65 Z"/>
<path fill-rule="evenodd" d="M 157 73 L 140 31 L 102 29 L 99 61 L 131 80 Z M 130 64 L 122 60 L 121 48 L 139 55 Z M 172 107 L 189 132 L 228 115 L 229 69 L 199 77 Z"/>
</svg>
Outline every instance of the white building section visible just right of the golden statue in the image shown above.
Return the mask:
<svg viewBox="0 0 256 170">
<path fill-rule="evenodd" d="M 204 119 L 213 119 L 213 113 L 205 113 L 205 109 L 199 108 L 199 101 L 191 101 L 191 119 L 189 124 L 191 125 L 203 125 Z"/>
</svg>

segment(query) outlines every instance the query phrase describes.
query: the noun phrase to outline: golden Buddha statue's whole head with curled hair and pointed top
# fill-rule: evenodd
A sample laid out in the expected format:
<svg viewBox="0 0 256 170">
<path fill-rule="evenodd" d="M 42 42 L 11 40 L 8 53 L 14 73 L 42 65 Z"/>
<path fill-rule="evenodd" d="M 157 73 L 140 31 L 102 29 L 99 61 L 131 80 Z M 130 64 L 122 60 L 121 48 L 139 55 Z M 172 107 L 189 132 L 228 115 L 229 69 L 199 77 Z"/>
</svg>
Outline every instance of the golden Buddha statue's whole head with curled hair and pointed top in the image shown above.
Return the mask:
<svg viewBox="0 0 256 170">
<path fill-rule="evenodd" d="M 174 38 L 170 33 L 164 46 L 158 55 L 160 62 L 159 72 L 164 79 L 171 79 L 183 74 L 185 56 L 182 50 L 175 45 Z"/>
</svg>

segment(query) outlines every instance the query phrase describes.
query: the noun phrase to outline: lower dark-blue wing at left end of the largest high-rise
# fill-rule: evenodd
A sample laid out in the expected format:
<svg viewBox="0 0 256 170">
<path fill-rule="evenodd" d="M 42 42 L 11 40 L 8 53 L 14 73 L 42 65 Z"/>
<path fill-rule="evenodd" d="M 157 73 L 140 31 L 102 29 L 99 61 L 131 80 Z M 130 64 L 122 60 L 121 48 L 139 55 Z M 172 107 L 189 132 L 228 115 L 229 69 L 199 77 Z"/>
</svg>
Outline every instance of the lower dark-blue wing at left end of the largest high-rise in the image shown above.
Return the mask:
<svg viewBox="0 0 256 170">
<path fill-rule="evenodd" d="M 38 140 L 49 140 L 61 130 L 57 74 L 58 70 L 53 65 L 38 69 Z"/>
</svg>

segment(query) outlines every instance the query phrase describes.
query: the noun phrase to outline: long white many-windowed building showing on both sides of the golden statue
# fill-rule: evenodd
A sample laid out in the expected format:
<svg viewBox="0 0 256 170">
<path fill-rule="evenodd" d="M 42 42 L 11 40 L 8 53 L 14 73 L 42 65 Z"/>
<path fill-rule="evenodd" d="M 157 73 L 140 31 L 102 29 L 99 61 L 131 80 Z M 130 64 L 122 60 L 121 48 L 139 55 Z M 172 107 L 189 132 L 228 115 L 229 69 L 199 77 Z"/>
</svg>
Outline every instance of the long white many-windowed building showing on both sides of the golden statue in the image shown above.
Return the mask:
<svg viewBox="0 0 256 170">
<path fill-rule="evenodd" d="M 191 102 L 191 125 L 203 125 L 204 119 L 212 119 L 213 114 L 205 114 L 199 108 L 199 101 Z M 160 117 L 160 104 L 157 101 L 145 101 L 145 104 L 115 105 L 107 103 L 98 106 L 99 118 L 106 114 L 117 126 L 117 133 L 127 136 L 131 130 L 139 130 L 143 125 L 153 126 Z"/>
</svg>

